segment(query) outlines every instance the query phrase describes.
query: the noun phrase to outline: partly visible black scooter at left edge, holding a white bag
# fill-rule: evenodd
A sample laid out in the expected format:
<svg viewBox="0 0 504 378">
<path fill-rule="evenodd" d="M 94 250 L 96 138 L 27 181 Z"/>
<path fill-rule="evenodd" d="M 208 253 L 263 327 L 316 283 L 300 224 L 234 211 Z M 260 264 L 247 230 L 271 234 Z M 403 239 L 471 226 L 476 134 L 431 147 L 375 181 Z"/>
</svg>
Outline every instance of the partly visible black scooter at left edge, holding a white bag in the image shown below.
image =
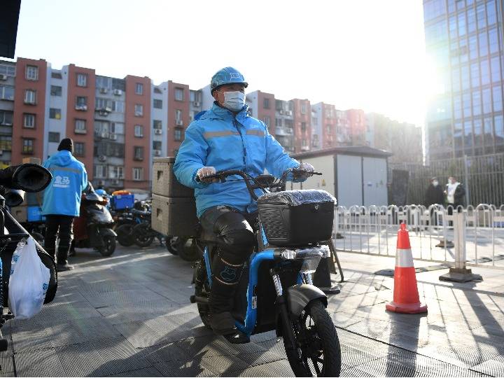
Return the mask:
<svg viewBox="0 0 504 378">
<path fill-rule="evenodd" d="M 25 192 L 35 193 L 44 190 L 51 179 L 52 175 L 47 169 L 35 164 L 0 169 L 0 351 L 8 349 L 8 341 L 1 335 L 1 327 L 14 317 L 10 311 L 4 311 L 4 308 L 8 307 L 10 263 L 18 243 L 30 237 L 27 230 L 10 215 L 8 208 L 21 204 Z M 46 304 L 52 302 L 56 295 L 56 265 L 36 240 L 34 244 L 38 257 L 50 272 L 49 286 L 44 299 Z"/>
</svg>

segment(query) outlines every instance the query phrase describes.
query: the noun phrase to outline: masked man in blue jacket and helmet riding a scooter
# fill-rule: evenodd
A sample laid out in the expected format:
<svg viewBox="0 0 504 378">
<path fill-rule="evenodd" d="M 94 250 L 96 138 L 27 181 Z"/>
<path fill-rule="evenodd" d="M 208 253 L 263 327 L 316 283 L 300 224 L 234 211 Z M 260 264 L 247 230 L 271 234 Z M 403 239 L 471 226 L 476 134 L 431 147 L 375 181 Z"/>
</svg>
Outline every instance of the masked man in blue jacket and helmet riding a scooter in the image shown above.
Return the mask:
<svg viewBox="0 0 504 378">
<path fill-rule="evenodd" d="M 244 262 L 255 246 L 257 203 L 244 181 L 221 183 L 206 177 L 228 169 L 240 169 L 251 176 L 264 174 L 267 169 L 280 177 L 286 169 L 300 167 L 269 134 L 265 123 L 248 116 L 247 86 L 244 76 L 232 67 L 221 69 L 211 78 L 214 105 L 189 125 L 174 165 L 176 178 L 195 188 L 202 227 L 222 241 L 213 262 L 210 323 L 214 332 L 230 341 L 239 337 L 230 311 Z M 314 169 L 308 164 L 301 167 Z"/>
</svg>

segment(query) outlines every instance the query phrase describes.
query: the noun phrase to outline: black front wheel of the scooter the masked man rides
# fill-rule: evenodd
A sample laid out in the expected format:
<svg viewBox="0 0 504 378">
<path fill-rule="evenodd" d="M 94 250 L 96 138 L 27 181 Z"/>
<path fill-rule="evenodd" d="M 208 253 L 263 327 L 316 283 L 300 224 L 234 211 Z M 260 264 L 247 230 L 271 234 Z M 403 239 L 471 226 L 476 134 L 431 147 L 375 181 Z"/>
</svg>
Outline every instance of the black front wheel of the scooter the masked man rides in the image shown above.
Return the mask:
<svg viewBox="0 0 504 378">
<path fill-rule="evenodd" d="M 283 325 L 286 327 L 289 325 Z M 296 377 L 339 377 L 341 348 L 332 319 L 320 300 L 305 307 L 290 323 L 296 349 L 290 349 L 284 339 L 290 367 Z M 284 331 L 286 334 L 288 330 Z"/>
</svg>

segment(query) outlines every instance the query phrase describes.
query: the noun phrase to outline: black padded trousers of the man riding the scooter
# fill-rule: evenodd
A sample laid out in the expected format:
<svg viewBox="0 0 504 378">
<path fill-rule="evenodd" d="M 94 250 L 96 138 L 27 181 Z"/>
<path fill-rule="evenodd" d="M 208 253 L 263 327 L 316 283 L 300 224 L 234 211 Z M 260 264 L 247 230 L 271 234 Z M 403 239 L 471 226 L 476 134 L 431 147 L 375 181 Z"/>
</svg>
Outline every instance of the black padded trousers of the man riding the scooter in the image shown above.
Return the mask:
<svg viewBox="0 0 504 378">
<path fill-rule="evenodd" d="M 232 207 L 216 206 L 200 218 L 202 227 L 216 235 L 218 251 L 212 262 L 210 311 L 214 314 L 231 311 L 244 262 L 254 250 L 253 231 L 257 214 L 240 213 Z"/>
</svg>

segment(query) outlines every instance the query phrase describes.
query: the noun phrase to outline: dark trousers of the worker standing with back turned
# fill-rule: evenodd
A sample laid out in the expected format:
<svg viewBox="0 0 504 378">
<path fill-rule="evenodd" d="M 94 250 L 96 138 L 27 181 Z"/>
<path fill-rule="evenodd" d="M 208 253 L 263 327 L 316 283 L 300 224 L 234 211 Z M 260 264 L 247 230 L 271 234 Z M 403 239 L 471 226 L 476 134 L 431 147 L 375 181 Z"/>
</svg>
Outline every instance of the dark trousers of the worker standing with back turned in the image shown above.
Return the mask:
<svg viewBox="0 0 504 378">
<path fill-rule="evenodd" d="M 45 221 L 44 248 L 52 258 L 56 257 L 56 236 L 59 237 L 57 263 L 66 264 L 73 239 L 73 216 L 48 215 Z"/>
</svg>

